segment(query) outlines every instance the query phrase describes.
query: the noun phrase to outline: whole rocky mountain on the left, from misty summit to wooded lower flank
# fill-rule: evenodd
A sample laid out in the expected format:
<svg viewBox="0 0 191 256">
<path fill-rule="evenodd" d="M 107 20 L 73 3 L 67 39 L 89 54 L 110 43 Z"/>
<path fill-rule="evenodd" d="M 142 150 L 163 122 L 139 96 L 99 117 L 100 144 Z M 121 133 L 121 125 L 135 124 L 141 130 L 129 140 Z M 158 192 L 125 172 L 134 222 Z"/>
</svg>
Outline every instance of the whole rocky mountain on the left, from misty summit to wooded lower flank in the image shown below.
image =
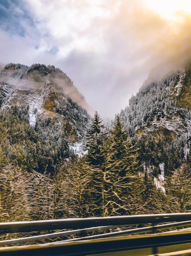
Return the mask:
<svg viewBox="0 0 191 256">
<path fill-rule="evenodd" d="M 8 122 L 7 125 L 14 123 L 15 130 L 18 129 L 18 140 L 8 140 L 8 143 L 10 146 L 19 144 L 26 157 L 31 154 L 27 145 L 24 146 L 26 140 L 32 143 L 37 154 L 37 141 L 30 138 L 35 136 L 35 140 L 47 147 L 42 153 L 45 162 L 50 158 L 50 162 L 55 164 L 59 162 L 59 157 L 63 160 L 73 154 L 82 155 L 82 139 L 91 122 L 84 107 L 88 109 L 83 95 L 71 79 L 54 66 L 33 64 L 28 67 L 11 63 L 0 71 L 1 121 Z M 28 138 L 21 139 L 21 130 L 16 122 L 23 125 L 21 130 L 24 137 L 28 130 Z M 15 131 L 12 132 L 15 134 Z M 8 156 L 9 153 L 6 154 Z M 32 158 L 36 162 L 35 156 Z M 54 164 L 50 164 L 50 167 L 46 167 L 47 163 L 42 167 L 40 162 L 34 165 L 39 172 L 53 173 Z"/>
</svg>

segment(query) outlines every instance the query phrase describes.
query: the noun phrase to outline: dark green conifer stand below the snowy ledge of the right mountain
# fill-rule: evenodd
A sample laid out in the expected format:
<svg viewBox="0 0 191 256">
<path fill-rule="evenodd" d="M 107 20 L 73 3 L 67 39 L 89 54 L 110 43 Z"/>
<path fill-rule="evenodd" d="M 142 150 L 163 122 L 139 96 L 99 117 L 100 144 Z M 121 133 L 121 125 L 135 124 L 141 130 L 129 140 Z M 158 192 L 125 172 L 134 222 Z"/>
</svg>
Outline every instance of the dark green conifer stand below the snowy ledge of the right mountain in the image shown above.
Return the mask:
<svg viewBox="0 0 191 256">
<path fill-rule="evenodd" d="M 154 135 L 136 137 L 139 147 L 139 159 L 146 168 L 157 177 L 160 174 L 159 164 L 164 163 L 165 175 L 172 175 L 173 171 L 185 162 L 184 149 L 189 148 L 187 134 L 174 139 L 161 139 Z"/>
</svg>

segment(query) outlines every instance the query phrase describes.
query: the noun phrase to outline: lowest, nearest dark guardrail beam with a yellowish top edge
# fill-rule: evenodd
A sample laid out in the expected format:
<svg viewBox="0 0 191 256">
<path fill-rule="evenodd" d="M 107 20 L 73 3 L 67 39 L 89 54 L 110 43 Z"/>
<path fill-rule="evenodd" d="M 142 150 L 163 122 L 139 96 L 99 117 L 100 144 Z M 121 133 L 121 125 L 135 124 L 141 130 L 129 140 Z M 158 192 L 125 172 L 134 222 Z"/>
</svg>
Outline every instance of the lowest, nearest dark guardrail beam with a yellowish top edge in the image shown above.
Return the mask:
<svg viewBox="0 0 191 256">
<path fill-rule="evenodd" d="M 1 256 L 72 256 L 191 242 L 191 231 L 0 248 Z"/>
</svg>

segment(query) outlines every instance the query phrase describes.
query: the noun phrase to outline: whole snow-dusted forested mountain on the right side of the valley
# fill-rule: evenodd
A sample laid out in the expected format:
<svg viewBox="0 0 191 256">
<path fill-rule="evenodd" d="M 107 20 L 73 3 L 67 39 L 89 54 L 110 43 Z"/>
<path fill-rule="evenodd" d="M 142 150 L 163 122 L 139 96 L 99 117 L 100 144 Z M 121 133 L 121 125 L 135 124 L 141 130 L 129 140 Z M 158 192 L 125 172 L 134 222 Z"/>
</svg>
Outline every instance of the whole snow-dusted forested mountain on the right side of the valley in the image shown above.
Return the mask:
<svg viewBox="0 0 191 256">
<path fill-rule="evenodd" d="M 159 81 L 144 84 L 120 117 L 139 144 L 141 163 L 163 188 L 164 175 L 190 172 L 191 64 Z"/>
</svg>

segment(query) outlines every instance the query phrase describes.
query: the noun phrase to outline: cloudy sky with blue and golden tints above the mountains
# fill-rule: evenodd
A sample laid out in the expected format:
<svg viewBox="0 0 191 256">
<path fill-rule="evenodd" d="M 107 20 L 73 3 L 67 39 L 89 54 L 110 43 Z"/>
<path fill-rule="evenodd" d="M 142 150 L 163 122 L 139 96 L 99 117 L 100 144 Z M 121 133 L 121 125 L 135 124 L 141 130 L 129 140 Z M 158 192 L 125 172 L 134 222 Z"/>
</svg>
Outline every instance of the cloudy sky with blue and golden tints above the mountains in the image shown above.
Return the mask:
<svg viewBox="0 0 191 256">
<path fill-rule="evenodd" d="M 112 118 L 191 53 L 190 0 L 0 0 L 0 63 L 52 64 Z"/>
</svg>

